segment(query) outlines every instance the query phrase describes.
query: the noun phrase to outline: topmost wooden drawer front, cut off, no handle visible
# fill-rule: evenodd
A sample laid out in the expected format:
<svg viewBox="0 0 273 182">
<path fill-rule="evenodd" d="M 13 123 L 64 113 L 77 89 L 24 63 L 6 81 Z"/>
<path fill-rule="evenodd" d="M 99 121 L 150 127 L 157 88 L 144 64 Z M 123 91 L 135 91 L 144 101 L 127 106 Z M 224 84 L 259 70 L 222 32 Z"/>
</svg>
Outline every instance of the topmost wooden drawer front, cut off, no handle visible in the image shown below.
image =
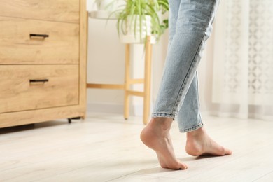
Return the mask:
<svg viewBox="0 0 273 182">
<path fill-rule="evenodd" d="M 59 22 L 79 22 L 80 0 L 0 0 L 0 15 Z"/>
</svg>

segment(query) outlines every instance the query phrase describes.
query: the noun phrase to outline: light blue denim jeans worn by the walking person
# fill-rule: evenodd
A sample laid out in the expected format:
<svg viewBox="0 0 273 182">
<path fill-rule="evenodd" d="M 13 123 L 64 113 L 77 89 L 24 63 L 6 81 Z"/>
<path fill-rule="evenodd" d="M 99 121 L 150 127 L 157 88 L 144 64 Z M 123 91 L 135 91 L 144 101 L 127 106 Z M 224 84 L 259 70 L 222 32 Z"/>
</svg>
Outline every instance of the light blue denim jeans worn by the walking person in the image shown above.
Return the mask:
<svg viewBox="0 0 273 182">
<path fill-rule="evenodd" d="M 212 31 L 219 0 L 169 0 L 169 45 L 152 117 L 177 118 L 179 130 L 203 126 L 197 66 Z"/>
</svg>

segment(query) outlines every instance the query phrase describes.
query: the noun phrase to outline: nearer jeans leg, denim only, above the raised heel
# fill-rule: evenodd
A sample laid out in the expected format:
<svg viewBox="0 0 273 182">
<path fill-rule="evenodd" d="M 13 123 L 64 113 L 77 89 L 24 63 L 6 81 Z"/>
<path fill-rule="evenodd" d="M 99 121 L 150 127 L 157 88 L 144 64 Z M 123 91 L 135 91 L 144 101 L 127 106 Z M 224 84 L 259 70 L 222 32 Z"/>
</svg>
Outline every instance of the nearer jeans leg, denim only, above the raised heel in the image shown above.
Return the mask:
<svg viewBox="0 0 273 182">
<path fill-rule="evenodd" d="M 218 0 L 181 0 L 153 117 L 175 119 L 211 34 Z"/>
</svg>

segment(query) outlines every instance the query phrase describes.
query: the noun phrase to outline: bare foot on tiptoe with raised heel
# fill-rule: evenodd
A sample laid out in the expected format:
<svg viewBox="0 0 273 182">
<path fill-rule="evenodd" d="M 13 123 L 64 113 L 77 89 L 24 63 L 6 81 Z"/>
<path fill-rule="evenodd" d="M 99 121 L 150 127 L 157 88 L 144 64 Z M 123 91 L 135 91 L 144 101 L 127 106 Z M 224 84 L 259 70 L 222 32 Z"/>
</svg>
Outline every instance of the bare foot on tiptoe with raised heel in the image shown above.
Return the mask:
<svg viewBox="0 0 273 182">
<path fill-rule="evenodd" d="M 158 155 L 162 168 L 187 169 L 187 165 L 176 159 L 169 130 L 172 118 L 152 118 L 141 132 L 141 141 Z"/>
</svg>

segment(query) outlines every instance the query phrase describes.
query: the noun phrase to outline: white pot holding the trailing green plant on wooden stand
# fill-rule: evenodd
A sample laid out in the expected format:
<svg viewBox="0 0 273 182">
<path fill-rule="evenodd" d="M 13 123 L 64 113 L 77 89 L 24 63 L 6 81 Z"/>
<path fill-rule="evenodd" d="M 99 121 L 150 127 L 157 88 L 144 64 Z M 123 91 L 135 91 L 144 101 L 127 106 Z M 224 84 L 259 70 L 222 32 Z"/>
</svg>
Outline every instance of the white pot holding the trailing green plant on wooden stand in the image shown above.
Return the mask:
<svg viewBox="0 0 273 182">
<path fill-rule="evenodd" d="M 137 20 L 136 30 L 134 29 L 135 21 Z M 126 34 L 120 36 L 120 41 L 123 43 L 145 43 L 146 36 L 151 36 L 151 16 L 145 15 L 145 20 L 142 18 L 142 27 L 140 31 L 139 15 L 129 15 L 126 24 Z M 141 32 L 141 33 L 140 33 Z"/>
</svg>

